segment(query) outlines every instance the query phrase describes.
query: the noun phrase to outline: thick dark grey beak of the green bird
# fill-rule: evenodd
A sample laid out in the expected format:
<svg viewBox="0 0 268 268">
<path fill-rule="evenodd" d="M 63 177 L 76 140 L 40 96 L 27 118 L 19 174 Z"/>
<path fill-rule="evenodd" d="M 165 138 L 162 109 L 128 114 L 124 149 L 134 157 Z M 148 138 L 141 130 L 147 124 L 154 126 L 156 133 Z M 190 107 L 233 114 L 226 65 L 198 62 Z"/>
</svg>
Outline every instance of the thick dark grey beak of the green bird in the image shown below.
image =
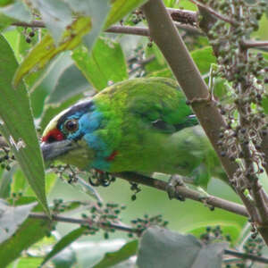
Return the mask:
<svg viewBox="0 0 268 268">
<path fill-rule="evenodd" d="M 55 141 L 52 143 L 41 143 L 41 150 L 45 162 L 49 160 L 54 160 L 56 157 L 67 154 L 75 146 L 74 142 L 70 139 L 65 139 L 62 141 Z"/>
</svg>

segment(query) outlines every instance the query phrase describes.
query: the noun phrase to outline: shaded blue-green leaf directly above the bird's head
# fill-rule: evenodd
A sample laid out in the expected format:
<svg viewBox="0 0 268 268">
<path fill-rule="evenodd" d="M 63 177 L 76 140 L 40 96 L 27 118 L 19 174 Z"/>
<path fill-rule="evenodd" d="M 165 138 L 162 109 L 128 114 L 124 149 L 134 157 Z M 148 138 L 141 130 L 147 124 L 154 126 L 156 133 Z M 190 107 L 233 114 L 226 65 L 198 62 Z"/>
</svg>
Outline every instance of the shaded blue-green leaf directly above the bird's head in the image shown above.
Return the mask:
<svg viewBox="0 0 268 268">
<path fill-rule="evenodd" d="M 58 78 L 54 90 L 48 96 L 46 103 L 63 103 L 72 96 L 85 91 L 88 91 L 88 93 L 94 92 L 93 88 L 89 85 L 88 80 L 84 77 L 77 66 L 71 64 Z"/>
</svg>

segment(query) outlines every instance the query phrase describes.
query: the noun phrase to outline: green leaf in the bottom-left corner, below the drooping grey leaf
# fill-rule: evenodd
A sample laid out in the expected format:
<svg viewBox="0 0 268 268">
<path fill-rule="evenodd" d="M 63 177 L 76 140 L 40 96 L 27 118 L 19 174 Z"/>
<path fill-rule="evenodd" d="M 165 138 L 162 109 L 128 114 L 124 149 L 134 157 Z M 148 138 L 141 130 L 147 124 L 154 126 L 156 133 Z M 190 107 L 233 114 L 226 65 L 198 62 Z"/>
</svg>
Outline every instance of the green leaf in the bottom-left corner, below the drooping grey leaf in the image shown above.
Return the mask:
<svg viewBox="0 0 268 268">
<path fill-rule="evenodd" d="M 23 197 L 17 203 L 29 204 L 35 200 L 36 198 L 34 197 Z M 43 209 L 40 205 L 37 205 L 34 211 L 43 212 Z M 53 226 L 47 219 L 38 220 L 28 218 L 21 224 L 11 238 L 0 244 L 0 268 L 6 267 L 7 264 L 10 264 L 21 255 L 22 250 L 29 248 L 39 239 L 44 238 L 53 229 Z"/>
</svg>

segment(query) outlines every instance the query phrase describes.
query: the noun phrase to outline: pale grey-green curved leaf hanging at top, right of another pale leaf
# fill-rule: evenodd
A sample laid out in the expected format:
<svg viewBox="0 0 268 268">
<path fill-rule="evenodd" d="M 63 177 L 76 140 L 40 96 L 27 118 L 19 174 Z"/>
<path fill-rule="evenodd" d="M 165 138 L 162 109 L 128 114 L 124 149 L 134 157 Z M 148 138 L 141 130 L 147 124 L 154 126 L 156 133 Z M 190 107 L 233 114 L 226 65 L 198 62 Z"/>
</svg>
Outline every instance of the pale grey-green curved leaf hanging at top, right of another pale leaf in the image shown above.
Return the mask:
<svg viewBox="0 0 268 268">
<path fill-rule="evenodd" d="M 92 21 L 90 32 L 83 38 L 88 51 L 91 50 L 100 31 L 103 29 L 105 19 L 109 13 L 110 0 L 65 0 L 74 13 L 81 13 L 89 16 Z"/>
</svg>

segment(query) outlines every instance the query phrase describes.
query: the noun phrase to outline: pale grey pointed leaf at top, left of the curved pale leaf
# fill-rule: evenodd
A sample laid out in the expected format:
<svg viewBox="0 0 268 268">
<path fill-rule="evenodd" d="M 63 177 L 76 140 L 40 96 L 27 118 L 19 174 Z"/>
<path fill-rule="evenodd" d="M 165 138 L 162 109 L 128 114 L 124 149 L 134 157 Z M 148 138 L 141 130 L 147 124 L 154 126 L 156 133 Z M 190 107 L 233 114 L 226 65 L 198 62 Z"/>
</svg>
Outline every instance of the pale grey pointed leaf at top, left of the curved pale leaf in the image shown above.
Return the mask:
<svg viewBox="0 0 268 268">
<path fill-rule="evenodd" d="M 30 4 L 41 14 L 46 28 L 52 34 L 54 41 L 59 42 L 63 31 L 71 24 L 71 9 L 60 0 L 30 0 Z"/>
</svg>

